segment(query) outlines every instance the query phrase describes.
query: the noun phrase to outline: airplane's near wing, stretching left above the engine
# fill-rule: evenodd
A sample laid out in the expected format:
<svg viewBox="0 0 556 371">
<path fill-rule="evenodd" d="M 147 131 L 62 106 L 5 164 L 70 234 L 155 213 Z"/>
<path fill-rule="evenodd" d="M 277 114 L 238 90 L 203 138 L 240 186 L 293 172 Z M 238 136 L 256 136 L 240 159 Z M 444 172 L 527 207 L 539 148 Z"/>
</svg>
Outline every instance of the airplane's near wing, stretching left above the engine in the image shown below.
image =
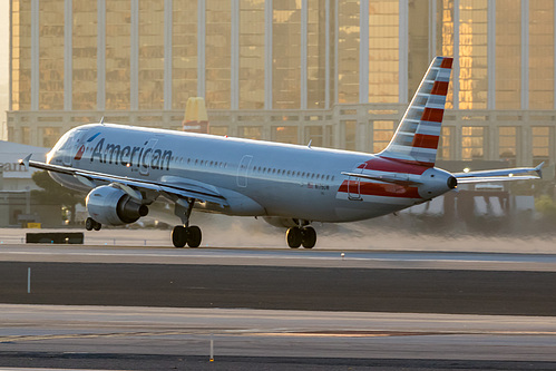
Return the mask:
<svg viewBox="0 0 556 371">
<path fill-rule="evenodd" d="M 105 173 L 82 170 L 74 167 L 66 167 L 59 165 L 51 165 L 40 162 L 31 160 L 31 155 L 27 156 L 25 159 L 20 159 L 19 163 L 26 168 L 35 167 L 42 170 L 66 174 L 76 177 L 82 184 L 89 187 L 97 187 L 100 183 L 111 183 L 116 184 L 121 191 L 126 192 L 129 196 L 135 199 L 142 199 L 140 189 L 155 191 L 160 194 L 167 194 L 174 196 L 173 198 L 195 198 L 201 202 L 211 202 L 222 206 L 228 206 L 226 198 L 222 196 L 215 189 L 208 189 L 202 185 L 184 184 L 175 185 L 173 183 L 165 182 L 150 182 L 137 178 L 130 178 L 125 176 L 117 176 Z"/>
</svg>

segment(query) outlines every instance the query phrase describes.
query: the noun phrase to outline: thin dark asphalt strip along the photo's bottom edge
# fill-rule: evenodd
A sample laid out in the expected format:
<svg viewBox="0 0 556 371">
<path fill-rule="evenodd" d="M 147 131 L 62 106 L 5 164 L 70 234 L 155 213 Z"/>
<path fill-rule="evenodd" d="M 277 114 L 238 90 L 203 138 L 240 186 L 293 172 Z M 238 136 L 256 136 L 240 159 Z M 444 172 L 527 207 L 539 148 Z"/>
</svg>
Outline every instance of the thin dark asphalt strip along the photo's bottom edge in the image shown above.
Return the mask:
<svg viewBox="0 0 556 371">
<path fill-rule="evenodd" d="M 220 357 L 208 362 L 206 357 L 153 355 L 153 354 L 67 354 L 67 353 L 4 353 L 0 362 L 6 367 L 21 363 L 36 364 L 37 369 L 50 370 L 226 370 L 226 371 L 281 371 L 281 370 L 547 370 L 553 371 L 556 362 L 531 361 L 469 361 L 469 360 L 398 360 L 398 359 L 334 359 L 289 357 Z M 2 368 L 11 371 L 12 369 Z M 21 369 L 16 368 L 13 371 Z"/>
</svg>

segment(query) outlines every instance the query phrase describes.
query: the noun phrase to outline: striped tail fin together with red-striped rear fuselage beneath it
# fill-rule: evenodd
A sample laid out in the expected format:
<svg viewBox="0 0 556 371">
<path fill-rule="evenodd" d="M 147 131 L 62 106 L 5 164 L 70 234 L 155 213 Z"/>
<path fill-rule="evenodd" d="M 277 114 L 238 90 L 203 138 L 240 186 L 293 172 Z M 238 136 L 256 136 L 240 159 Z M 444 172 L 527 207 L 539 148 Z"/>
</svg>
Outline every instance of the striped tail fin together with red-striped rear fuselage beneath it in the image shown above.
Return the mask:
<svg viewBox="0 0 556 371">
<path fill-rule="evenodd" d="M 435 166 L 452 60 L 435 58 L 388 147 L 348 173 L 336 197 L 421 198 L 410 177 Z"/>
</svg>

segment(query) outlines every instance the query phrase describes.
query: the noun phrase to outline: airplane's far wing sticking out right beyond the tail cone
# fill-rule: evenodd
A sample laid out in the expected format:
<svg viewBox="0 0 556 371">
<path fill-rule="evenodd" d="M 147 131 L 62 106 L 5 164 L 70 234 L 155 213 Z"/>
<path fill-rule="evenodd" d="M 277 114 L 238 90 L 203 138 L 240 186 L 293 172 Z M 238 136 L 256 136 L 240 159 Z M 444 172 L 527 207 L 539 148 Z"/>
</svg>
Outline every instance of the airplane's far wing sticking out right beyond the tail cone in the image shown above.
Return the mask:
<svg viewBox="0 0 556 371">
<path fill-rule="evenodd" d="M 539 164 L 537 167 L 515 167 L 496 170 L 455 173 L 453 176 L 458 179 L 458 184 L 539 179 L 543 177 L 543 165 L 545 165 L 545 163 Z"/>
</svg>

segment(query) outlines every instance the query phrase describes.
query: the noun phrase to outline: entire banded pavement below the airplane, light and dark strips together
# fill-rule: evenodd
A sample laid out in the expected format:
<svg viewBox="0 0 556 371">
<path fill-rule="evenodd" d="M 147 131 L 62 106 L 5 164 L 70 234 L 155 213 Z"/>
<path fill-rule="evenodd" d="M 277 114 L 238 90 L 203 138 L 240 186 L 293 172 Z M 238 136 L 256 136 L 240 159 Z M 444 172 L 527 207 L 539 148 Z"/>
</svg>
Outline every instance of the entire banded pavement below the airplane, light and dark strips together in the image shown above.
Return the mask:
<svg viewBox="0 0 556 371">
<path fill-rule="evenodd" d="M 555 282 L 546 253 L 3 244 L 0 365 L 549 370 Z"/>
</svg>

